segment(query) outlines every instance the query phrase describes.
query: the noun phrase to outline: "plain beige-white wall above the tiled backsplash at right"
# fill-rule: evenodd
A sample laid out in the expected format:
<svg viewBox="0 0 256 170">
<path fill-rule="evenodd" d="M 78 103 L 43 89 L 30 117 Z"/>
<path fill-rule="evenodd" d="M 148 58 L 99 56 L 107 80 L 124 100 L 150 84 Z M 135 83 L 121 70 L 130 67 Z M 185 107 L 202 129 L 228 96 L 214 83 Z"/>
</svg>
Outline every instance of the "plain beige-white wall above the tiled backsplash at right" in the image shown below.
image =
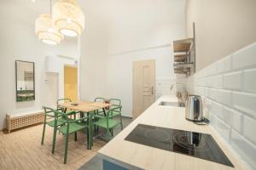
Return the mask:
<svg viewBox="0 0 256 170">
<path fill-rule="evenodd" d="M 195 22 L 196 70 L 256 41 L 255 0 L 187 0 L 187 34 Z"/>
</svg>

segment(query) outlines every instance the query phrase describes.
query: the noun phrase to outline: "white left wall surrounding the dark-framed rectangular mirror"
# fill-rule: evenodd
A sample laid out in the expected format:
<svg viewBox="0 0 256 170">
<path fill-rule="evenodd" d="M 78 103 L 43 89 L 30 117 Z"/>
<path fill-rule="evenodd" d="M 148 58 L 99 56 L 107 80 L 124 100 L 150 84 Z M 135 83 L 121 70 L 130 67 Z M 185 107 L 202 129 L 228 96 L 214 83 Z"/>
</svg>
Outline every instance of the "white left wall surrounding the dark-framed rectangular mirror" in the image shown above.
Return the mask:
<svg viewBox="0 0 256 170">
<path fill-rule="evenodd" d="M 1 1 L 0 129 L 4 127 L 3 122 L 7 113 L 39 110 L 42 105 L 55 105 L 57 77 L 51 74 L 49 81 L 44 81 L 46 55 L 76 56 L 79 54 L 76 41 L 63 42 L 60 46 L 53 47 L 39 42 L 34 33 L 34 20 L 38 15 L 15 0 Z M 15 59 L 35 62 L 35 101 L 21 103 L 15 101 Z"/>
</svg>

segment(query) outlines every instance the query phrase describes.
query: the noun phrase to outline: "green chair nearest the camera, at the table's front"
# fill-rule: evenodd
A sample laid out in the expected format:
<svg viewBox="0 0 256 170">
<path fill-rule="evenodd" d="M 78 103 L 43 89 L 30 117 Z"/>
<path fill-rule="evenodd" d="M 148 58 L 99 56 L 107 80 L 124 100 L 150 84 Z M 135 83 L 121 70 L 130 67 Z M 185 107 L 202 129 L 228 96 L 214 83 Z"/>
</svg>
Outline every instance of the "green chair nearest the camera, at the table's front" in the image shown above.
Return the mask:
<svg viewBox="0 0 256 170">
<path fill-rule="evenodd" d="M 88 125 L 89 121 L 89 116 L 84 116 L 82 118 L 76 119 L 76 120 L 71 120 L 68 118 L 70 115 L 75 115 L 77 112 L 75 111 L 70 111 L 68 113 L 64 113 L 61 111 L 55 111 L 56 116 L 61 116 L 61 127 L 57 127 L 57 130 L 62 133 L 65 136 L 65 154 L 64 154 L 64 164 L 67 163 L 67 150 L 68 150 L 68 137 L 70 134 L 74 133 L 76 136 L 76 133 L 81 130 L 86 130 L 87 134 L 90 130 L 90 126 Z M 54 133 L 54 136 L 56 136 L 56 132 Z M 87 138 L 87 148 L 90 148 L 90 139 Z M 54 137 L 54 143 L 55 143 L 55 137 Z M 54 148 L 53 148 L 54 150 Z"/>
</svg>

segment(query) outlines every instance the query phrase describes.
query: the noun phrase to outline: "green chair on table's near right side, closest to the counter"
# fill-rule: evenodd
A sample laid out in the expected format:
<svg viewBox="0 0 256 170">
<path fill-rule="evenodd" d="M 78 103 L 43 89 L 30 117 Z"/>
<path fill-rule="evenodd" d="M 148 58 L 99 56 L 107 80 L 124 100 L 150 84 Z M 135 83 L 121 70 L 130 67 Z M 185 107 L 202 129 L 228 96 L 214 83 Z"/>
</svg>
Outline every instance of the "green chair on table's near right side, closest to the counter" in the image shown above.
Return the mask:
<svg viewBox="0 0 256 170">
<path fill-rule="evenodd" d="M 111 135 L 113 136 L 113 128 L 117 127 L 119 124 L 121 125 L 121 129 L 123 129 L 123 123 L 121 119 L 121 108 L 122 106 L 116 106 L 114 108 L 111 108 L 107 112 L 107 116 L 101 116 L 101 115 L 94 115 L 94 118 L 96 118 L 95 122 L 93 122 L 93 125 L 96 125 L 96 127 L 102 127 L 106 129 L 108 140 L 111 139 Z M 113 112 L 115 112 L 113 114 Z M 119 116 L 120 121 L 114 120 L 113 117 Z"/>
</svg>

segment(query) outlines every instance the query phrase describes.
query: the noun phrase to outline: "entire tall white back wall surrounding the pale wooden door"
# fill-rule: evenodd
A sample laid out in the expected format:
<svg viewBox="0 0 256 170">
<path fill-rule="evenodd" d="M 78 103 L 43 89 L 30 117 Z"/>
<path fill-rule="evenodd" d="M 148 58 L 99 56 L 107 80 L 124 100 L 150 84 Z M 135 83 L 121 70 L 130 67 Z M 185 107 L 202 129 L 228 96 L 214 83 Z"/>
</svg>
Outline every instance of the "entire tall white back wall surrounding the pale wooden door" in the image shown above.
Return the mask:
<svg viewBox="0 0 256 170">
<path fill-rule="evenodd" d="M 185 1 L 122 1 L 108 24 L 108 98 L 119 98 L 132 116 L 132 61 L 155 59 L 156 92 L 171 87 L 173 40 L 185 37 Z M 168 89 L 168 88 L 166 88 Z"/>
</svg>

